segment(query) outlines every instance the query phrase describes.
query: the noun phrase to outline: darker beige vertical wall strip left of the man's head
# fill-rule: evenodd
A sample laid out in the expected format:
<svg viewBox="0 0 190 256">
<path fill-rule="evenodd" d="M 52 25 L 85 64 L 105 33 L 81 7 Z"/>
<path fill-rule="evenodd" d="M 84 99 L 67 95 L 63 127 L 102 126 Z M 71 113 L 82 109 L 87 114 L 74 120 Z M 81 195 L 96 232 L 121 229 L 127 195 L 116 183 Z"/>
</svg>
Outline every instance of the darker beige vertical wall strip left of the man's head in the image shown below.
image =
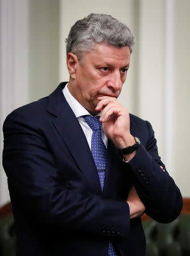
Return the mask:
<svg viewBox="0 0 190 256">
<path fill-rule="evenodd" d="M 58 84 L 59 0 L 29 0 L 29 101 Z"/>
</svg>

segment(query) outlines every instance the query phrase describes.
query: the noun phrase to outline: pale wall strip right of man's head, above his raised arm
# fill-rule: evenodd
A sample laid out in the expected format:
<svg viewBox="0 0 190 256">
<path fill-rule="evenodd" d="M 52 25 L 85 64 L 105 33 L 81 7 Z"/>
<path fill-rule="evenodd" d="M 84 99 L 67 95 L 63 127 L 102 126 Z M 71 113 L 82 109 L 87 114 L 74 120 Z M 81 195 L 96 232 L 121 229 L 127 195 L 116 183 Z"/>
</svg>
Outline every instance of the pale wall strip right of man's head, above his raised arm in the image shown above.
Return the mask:
<svg viewBox="0 0 190 256">
<path fill-rule="evenodd" d="M 164 158 L 164 0 L 140 1 L 138 115 L 151 122 Z M 164 159 L 166 160 L 166 159 Z M 165 162 L 165 161 L 164 161 Z"/>
</svg>

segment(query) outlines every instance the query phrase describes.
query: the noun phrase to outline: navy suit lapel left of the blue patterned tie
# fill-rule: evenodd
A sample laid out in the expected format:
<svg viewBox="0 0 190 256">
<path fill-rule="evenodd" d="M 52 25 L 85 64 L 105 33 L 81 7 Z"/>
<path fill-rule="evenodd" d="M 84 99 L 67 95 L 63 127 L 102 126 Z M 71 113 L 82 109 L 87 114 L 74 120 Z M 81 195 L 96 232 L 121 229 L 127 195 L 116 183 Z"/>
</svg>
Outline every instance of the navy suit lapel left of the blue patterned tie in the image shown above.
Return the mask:
<svg viewBox="0 0 190 256">
<path fill-rule="evenodd" d="M 60 133 L 73 155 L 75 162 L 88 180 L 92 191 L 96 194 L 101 193 L 98 172 L 85 134 L 62 93 L 62 88 L 65 84 L 61 83 L 50 94 L 48 112 L 56 115 L 56 118 L 53 119 L 53 125 L 56 127 L 58 133 Z"/>
</svg>

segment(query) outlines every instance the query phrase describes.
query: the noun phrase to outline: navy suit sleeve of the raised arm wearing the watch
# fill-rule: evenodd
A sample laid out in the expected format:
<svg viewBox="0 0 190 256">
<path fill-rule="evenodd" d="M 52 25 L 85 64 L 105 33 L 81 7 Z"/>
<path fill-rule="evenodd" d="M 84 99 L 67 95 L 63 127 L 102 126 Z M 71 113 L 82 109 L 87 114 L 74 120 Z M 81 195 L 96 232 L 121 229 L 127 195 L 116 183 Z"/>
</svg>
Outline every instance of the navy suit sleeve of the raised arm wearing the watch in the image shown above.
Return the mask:
<svg viewBox="0 0 190 256">
<path fill-rule="evenodd" d="M 171 222 L 179 216 L 183 200 L 179 188 L 158 155 L 154 131 L 146 121 L 148 139 L 141 144 L 136 155 L 128 163 L 138 196 L 146 207 L 145 212 L 158 222 Z"/>
</svg>

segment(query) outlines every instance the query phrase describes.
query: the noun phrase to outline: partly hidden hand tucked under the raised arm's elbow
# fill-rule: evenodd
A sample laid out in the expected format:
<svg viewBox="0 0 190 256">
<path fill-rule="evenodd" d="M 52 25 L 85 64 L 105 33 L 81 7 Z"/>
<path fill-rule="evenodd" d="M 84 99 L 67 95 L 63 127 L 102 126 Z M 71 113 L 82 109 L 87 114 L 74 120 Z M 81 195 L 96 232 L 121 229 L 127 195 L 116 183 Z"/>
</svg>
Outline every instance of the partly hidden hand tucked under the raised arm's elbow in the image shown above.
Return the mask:
<svg viewBox="0 0 190 256">
<path fill-rule="evenodd" d="M 138 197 L 136 188 L 133 185 L 130 188 L 127 202 L 130 207 L 130 218 L 141 217 L 145 212 L 145 205 L 143 205 L 142 201 Z"/>
</svg>

